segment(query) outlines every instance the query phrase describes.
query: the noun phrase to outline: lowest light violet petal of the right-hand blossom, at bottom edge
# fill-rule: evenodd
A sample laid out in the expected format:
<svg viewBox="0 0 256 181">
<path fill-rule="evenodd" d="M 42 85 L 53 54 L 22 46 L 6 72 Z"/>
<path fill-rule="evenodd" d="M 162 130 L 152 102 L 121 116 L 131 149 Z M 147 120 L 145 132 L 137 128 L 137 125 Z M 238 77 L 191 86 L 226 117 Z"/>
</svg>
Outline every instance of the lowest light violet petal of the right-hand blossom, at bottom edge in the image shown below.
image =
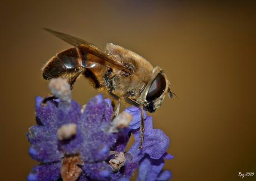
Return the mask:
<svg viewBox="0 0 256 181">
<path fill-rule="evenodd" d="M 137 179 L 140 181 L 155 181 L 164 166 L 164 159 L 152 159 L 145 155 L 140 161 Z"/>
</svg>

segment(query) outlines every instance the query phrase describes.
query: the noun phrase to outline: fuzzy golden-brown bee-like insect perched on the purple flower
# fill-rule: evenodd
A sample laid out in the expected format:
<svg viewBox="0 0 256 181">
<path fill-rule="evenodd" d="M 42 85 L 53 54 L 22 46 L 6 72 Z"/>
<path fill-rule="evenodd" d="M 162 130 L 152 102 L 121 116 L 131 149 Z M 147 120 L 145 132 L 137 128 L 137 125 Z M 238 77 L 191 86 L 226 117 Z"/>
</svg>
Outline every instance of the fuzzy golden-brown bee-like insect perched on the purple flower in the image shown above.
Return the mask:
<svg viewBox="0 0 256 181">
<path fill-rule="evenodd" d="M 50 59 L 42 68 L 43 78 L 69 77 L 71 89 L 78 77 L 86 77 L 91 85 L 111 101 L 117 100 L 115 115 L 121 100 L 126 106 L 135 105 L 141 110 L 140 147 L 144 138 L 143 110 L 154 113 L 165 95 L 173 97 L 163 69 L 152 65 L 138 54 L 107 43 L 105 51 L 80 38 L 46 29 L 73 47 Z M 43 100 L 46 103 L 47 97 Z"/>
</svg>

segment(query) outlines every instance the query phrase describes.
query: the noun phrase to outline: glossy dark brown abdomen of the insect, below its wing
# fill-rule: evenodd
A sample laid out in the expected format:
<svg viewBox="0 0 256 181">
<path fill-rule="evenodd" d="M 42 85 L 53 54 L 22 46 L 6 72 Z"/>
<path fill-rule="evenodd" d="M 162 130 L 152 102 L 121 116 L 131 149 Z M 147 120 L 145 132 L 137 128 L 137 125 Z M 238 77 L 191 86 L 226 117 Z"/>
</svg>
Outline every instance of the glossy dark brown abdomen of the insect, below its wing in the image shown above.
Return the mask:
<svg viewBox="0 0 256 181">
<path fill-rule="evenodd" d="M 85 67 L 86 61 L 86 54 L 81 51 L 77 52 L 75 47 L 68 48 L 56 54 L 45 64 L 42 68 L 43 78 L 48 80 L 63 74 L 77 72 L 81 67 Z"/>
</svg>

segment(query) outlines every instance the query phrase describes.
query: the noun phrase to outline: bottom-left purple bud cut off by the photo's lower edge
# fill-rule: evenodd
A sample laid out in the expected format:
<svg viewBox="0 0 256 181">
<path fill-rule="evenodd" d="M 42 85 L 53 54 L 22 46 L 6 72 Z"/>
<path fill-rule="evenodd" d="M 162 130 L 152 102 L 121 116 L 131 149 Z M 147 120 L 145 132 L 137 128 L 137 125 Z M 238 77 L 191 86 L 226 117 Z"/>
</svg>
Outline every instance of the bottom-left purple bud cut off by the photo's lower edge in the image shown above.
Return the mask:
<svg viewBox="0 0 256 181">
<path fill-rule="evenodd" d="M 52 181 L 60 177 L 61 162 L 35 165 L 27 175 L 28 181 Z"/>
</svg>

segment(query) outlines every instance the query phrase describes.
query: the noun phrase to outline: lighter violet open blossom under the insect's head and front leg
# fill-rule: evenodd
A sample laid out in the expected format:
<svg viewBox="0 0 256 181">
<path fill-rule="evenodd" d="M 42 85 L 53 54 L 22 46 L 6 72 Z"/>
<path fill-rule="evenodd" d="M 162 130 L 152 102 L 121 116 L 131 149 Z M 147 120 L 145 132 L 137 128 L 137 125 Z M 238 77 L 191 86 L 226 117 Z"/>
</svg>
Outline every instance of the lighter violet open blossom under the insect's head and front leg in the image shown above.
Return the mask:
<svg viewBox="0 0 256 181">
<path fill-rule="evenodd" d="M 142 149 L 137 149 L 140 144 L 140 108 L 129 107 L 125 112 L 133 117 L 130 126 L 127 128 L 135 137 L 135 143 L 129 151 L 125 153 L 125 168 L 119 172 L 111 174 L 112 180 L 122 177 L 131 177 L 134 168 L 139 166 L 137 180 L 169 180 L 171 178 L 170 170 L 161 170 L 164 166 L 164 159 L 172 159 L 173 156 L 166 153 L 169 145 L 169 138 L 160 129 L 152 129 L 152 117 L 147 116 L 144 111 L 145 131 Z"/>
</svg>

